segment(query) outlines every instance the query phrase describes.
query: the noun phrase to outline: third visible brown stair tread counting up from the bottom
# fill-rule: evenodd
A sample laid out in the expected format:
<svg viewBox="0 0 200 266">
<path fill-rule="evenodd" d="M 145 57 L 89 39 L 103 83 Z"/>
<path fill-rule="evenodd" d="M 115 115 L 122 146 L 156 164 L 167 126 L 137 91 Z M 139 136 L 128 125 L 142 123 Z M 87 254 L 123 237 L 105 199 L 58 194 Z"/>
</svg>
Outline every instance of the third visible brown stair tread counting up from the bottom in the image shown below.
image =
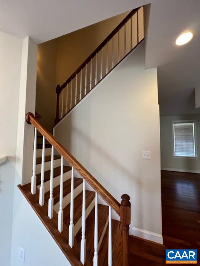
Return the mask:
<svg viewBox="0 0 200 266">
<path fill-rule="evenodd" d="M 85 191 L 85 208 L 87 209 L 90 203 L 95 198 L 94 191 Z M 73 215 L 73 223 L 74 225 L 78 222 L 80 217 L 82 216 L 82 206 L 83 206 L 83 191 L 78 194 L 78 196 L 74 199 L 74 215 Z M 68 226 L 70 222 L 70 203 L 63 209 L 63 220 L 64 223 Z"/>
</svg>

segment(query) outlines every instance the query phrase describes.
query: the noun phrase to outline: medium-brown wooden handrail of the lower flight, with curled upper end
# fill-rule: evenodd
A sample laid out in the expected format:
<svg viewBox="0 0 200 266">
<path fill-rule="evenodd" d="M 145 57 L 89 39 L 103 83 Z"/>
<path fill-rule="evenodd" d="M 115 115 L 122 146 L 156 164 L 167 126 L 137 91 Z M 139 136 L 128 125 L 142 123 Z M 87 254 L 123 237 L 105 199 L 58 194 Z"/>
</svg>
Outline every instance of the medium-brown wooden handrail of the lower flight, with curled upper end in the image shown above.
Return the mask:
<svg viewBox="0 0 200 266">
<path fill-rule="evenodd" d="M 103 198 L 104 201 L 120 215 L 120 203 L 68 152 L 51 133 L 44 128 L 32 113 L 27 113 L 26 121 L 32 124 L 44 136 L 47 141 L 63 156 L 63 158 L 76 169 L 76 171 L 88 182 L 88 184 Z"/>
</svg>

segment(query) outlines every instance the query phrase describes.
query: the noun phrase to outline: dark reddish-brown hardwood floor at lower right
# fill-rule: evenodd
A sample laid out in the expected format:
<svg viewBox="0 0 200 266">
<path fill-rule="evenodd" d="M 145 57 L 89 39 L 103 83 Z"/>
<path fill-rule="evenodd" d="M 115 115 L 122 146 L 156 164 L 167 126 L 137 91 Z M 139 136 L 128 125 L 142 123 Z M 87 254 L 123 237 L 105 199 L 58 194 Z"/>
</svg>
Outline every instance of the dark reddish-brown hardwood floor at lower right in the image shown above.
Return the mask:
<svg viewBox="0 0 200 266">
<path fill-rule="evenodd" d="M 130 265 L 165 264 L 165 249 L 197 249 L 200 265 L 200 174 L 161 171 L 164 245 L 130 238 Z"/>
</svg>

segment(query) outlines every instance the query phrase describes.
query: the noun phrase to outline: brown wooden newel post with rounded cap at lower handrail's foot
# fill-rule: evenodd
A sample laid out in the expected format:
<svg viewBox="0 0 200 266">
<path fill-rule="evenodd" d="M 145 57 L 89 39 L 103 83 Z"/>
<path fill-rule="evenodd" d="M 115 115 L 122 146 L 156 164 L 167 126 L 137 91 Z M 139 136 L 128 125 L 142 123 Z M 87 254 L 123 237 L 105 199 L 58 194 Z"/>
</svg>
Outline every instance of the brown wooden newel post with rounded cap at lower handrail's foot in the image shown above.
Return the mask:
<svg viewBox="0 0 200 266">
<path fill-rule="evenodd" d="M 120 222 L 122 223 L 122 233 L 123 233 L 123 266 L 128 266 L 128 256 L 129 256 L 129 225 L 131 223 L 131 203 L 130 197 L 127 194 L 121 196 L 122 201 L 120 204 Z"/>
</svg>

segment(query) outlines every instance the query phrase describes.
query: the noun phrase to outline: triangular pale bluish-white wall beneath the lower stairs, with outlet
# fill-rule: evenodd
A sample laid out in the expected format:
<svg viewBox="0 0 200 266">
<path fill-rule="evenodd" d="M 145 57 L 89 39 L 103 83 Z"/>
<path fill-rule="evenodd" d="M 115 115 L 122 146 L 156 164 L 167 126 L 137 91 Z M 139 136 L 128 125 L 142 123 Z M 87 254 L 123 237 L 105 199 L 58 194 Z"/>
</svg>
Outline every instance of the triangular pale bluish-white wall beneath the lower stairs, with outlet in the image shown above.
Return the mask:
<svg viewBox="0 0 200 266">
<path fill-rule="evenodd" d="M 15 199 L 11 266 L 70 265 L 18 188 Z M 24 263 L 18 259 L 19 247 L 25 249 Z"/>
</svg>

